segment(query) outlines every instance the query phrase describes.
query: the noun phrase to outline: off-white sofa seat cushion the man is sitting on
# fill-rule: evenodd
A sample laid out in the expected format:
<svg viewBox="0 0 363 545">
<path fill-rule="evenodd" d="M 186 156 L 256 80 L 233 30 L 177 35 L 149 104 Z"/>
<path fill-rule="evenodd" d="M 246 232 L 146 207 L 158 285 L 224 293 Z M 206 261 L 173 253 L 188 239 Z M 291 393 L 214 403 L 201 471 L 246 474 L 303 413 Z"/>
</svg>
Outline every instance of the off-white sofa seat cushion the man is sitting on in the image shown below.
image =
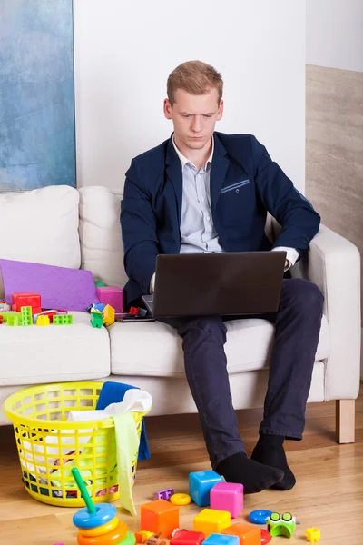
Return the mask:
<svg viewBox="0 0 363 545">
<path fill-rule="evenodd" d="M 229 373 L 265 367 L 273 341 L 273 325 L 257 318 L 233 320 L 226 325 Z M 184 376 L 182 341 L 171 326 L 162 322 L 116 322 L 109 333 L 113 374 Z M 323 317 L 316 360 L 328 355 L 329 329 Z"/>
</svg>

